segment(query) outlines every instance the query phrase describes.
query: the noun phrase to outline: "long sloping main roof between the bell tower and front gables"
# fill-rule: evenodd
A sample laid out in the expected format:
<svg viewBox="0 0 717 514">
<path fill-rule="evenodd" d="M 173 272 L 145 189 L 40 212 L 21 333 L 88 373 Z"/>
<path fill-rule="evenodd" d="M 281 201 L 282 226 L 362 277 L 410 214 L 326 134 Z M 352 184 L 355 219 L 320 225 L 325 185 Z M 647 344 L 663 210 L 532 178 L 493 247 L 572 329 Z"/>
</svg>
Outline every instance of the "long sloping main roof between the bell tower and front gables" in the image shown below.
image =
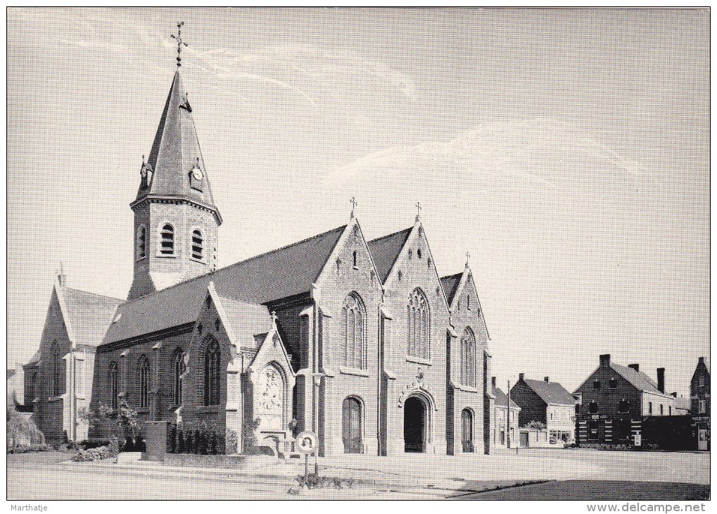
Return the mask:
<svg viewBox="0 0 717 514">
<path fill-rule="evenodd" d="M 220 297 L 253 304 L 267 304 L 308 293 L 345 229 L 346 225 L 343 225 L 218 269 L 211 276 L 201 275 L 129 300 L 118 308 L 118 314 L 122 315 L 110 324 L 105 343 L 196 322 L 210 280 L 214 281 Z"/>
</svg>

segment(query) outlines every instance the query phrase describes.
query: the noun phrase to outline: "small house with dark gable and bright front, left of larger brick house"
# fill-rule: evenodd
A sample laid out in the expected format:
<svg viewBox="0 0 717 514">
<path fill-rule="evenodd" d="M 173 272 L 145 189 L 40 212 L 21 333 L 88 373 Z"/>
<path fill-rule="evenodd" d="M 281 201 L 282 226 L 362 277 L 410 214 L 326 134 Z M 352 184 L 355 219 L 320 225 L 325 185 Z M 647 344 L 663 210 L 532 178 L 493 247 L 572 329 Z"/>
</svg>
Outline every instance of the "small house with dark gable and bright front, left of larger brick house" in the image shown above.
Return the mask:
<svg viewBox="0 0 717 514">
<path fill-rule="evenodd" d="M 521 373 L 511 388 L 511 399 L 521 408 L 518 416 L 521 428 L 539 421 L 546 426 L 551 443 L 574 439 L 577 402 L 560 383 L 551 382 L 549 377 L 531 380 Z"/>
</svg>

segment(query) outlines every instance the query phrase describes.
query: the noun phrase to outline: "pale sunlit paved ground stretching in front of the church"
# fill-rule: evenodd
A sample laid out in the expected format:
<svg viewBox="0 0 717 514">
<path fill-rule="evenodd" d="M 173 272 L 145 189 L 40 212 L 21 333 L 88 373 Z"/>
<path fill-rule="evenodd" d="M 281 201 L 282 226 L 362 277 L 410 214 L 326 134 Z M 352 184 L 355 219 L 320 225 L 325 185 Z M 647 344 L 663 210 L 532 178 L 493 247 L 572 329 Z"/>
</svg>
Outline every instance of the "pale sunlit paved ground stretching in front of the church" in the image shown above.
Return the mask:
<svg viewBox="0 0 717 514">
<path fill-rule="evenodd" d="M 273 476 L 257 477 L 217 470 L 211 473 L 191 468 L 172 470 L 148 464 L 133 464 L 133 467 L 123 469 L 112 464 L 56 463 L 62 459 L 62 454 L 8 457 L 7 495 L 8 498 L 22 500 L 287 499 L 295 498 L 288 495 L 288 490 L 296 484 L 294 477 L 301 471 L 299 464 L 277 464 L 258 470 L 263 475 Z M 517 457 L 509 452 L 457 457 L 345 456 L 320 459 L 320 474 L 374 480 L 375 484 L 359 485 L 353 490 L 310 491 L 298 499 L 431 499 L 455 495 L 461 490 L 481 491 L 496 485 L 506 487 L 516 481 L 534 480 L 587 479 L 708 485 L 708 470 L 709 455 L 694 453 L 526 449 Z M 561 490 L 557 483 L 560 482 L 518 487 L 513 494 L 551 497 L 556 490 Z M 645 487 L 637 486 L 635 490 L 639 492 Z M 653 490 L 663 491 L 666 495 L 663 499 L 670 499 L 673 494 L 681 495 L 679 491 L 685 490 L 685 486 L 663 484 Z M 592 492 L 599 495 L 599 489 Z M 508 495 L 511 492 L 483 493 L 488 494 Z"/>
</svg>

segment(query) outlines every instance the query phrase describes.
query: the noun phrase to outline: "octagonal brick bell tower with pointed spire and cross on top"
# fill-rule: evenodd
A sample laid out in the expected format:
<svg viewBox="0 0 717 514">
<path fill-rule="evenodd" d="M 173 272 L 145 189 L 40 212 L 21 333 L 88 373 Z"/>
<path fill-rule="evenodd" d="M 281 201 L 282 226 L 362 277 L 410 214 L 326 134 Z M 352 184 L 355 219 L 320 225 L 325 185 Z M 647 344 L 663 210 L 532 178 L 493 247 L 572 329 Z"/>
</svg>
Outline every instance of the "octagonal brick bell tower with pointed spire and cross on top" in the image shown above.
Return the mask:
<svg viewBox="0 0 717 514">
<path fill-rule="evenodd" d="M 178 24 L 181 31 L 181 24 Z M 175 37 L 173 35 L 173 37 Z M 191 106 L 177 70 L 148 159 L 142 159 L 134 212 L 134 279 L 128 300 L 209 273 L 217 266 L 222 216 L 214 205 Z"/>
</svg>

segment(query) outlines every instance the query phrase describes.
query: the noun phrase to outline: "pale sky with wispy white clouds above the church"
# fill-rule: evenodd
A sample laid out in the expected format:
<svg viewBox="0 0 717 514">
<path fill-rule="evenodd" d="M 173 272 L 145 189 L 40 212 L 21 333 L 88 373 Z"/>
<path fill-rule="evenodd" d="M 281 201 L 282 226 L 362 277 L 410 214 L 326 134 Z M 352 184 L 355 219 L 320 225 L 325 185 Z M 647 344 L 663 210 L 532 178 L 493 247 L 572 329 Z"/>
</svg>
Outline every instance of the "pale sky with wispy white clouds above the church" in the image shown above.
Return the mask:
<svg viewBox="0 0 717 514">
<path fill-rule="evenodd" d="M 55 271 L 125 298 L 138 187 L 182 73 L 219 266 L 348 221 L 465 254 L 493 374 L 598 355 L 688 395 L 709 352 L 706 9 L 11 8 L 8 364 Z M 709 362 L 709 360 L 708 360 Z"/>
</svg>

